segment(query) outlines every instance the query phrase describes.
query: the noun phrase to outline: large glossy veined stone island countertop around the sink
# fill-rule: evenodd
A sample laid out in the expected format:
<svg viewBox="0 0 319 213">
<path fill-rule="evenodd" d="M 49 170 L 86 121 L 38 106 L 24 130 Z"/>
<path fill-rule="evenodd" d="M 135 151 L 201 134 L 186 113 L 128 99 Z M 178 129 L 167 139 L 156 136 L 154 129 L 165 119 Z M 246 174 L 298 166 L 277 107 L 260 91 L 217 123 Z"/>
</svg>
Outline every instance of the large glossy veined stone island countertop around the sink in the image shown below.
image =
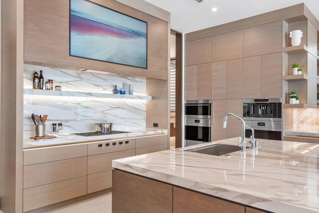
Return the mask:
<svg viewBox="0 0 319 213">
<path fill-rule="evenodd" d="M 225 158 L 177 148 L 114 160 L 112 166 L 270 212 L 319 212 L 319 145 L 258 141 L 258 151 L 247 149 L 246 159 L 241 151 Z M 238 138 L 218 143 L 237 145 Z"/>
</svg>

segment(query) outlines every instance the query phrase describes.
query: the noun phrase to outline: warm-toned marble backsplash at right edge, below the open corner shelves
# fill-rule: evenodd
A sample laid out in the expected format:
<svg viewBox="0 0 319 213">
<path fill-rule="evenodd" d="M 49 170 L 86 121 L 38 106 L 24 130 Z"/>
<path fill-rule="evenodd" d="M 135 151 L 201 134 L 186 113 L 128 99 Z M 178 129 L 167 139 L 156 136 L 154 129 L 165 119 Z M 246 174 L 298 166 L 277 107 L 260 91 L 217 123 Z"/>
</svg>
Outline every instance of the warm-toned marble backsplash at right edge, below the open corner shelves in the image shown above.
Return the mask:
<svg viewBox="0 0 319 213">
<path fill-rule="evenodd" d="M 294 109 L 294 129 L 319 130 L 319 109 Z"/>
</svg>

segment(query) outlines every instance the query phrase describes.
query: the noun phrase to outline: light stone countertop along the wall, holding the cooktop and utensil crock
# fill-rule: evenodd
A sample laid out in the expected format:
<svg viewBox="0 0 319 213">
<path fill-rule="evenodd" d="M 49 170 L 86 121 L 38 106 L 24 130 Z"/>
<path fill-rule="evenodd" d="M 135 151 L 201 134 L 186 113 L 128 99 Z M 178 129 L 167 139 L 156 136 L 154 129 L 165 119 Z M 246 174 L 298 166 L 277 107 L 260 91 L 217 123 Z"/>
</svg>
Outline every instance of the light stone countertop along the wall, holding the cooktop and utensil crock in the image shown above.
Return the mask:
<svg viewBox="0 0 319 213">
<path fill-rule="evenodd" d="M 54 138 L 54 139 L 40 139 L 40 140 L 24 138 L 23 148 L 30 149 L 30 148 L 49 147 L 49 146 L 66 145 L 66 144 L 74 144 L 74 143 L 93 142 L 93 141 L 118 140 L 118 139 L 124 139 L 124 138 L 143 137 L 143 136 L 159 135 L 159 134 L 166 134 L 166 133 L 167 133 L 167 130 L 164 130 L 164 129 L 146 128 L 146 129 L 137 129 L 129 133 L 114 134 L 114 135 L 101 135 L 101 136 L 88 136 L 88 137 L 75 136 L 74 138 Z"/>
</svg>

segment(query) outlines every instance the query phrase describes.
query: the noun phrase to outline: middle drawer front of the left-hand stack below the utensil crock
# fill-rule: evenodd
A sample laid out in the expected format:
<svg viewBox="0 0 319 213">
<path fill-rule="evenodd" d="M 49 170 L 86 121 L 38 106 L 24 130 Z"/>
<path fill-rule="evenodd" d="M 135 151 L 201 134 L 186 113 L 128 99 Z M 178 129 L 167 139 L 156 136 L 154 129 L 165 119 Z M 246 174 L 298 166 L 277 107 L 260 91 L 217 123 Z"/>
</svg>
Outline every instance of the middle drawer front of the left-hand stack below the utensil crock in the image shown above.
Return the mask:
<svg viewBox="0 0 319 213">
<path fill-rule="evenodd" d="M 23 189 L 87 175 L 87 157 L 23 167 Z"/>
</svg>

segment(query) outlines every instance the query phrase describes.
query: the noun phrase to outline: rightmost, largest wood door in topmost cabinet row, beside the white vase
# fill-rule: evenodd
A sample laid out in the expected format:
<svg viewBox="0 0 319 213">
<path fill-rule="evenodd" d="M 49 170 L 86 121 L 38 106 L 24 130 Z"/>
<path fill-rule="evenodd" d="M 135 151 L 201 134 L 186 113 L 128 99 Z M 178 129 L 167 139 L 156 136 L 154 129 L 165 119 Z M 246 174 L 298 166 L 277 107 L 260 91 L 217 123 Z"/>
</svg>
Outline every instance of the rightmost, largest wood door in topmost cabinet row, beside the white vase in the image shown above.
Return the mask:
<svg viewBox="0 0 319 213">
<path fill-rule="evenodd" d="M 282 21 L 244 29 L 244 57 L 282 51 Z"/>
</svg>

